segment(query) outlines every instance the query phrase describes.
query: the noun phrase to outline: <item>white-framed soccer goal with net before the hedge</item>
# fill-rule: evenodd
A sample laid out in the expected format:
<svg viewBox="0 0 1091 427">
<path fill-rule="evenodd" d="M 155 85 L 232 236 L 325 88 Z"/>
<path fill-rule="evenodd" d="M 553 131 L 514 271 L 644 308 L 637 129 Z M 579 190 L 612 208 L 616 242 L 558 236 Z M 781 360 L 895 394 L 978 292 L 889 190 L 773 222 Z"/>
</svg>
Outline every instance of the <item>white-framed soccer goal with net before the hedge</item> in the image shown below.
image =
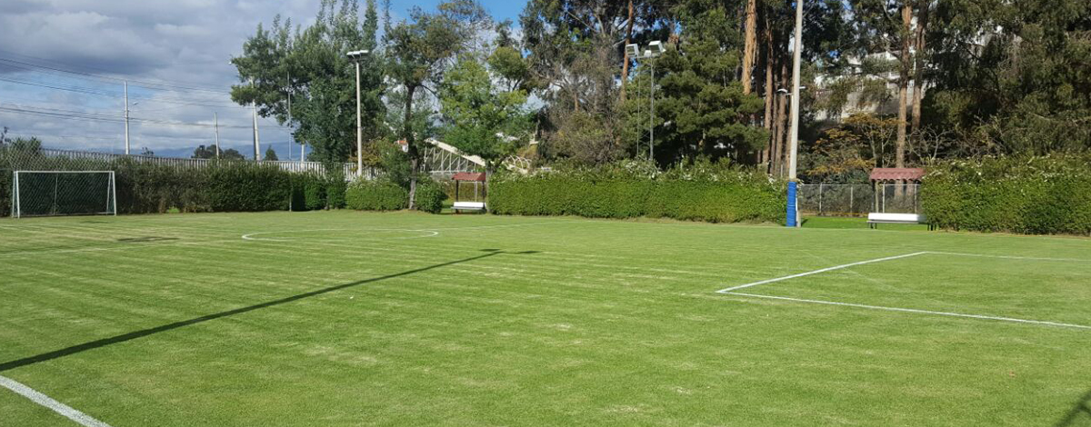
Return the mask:
<svg viewBox="0 0 1091 427">
<path fill-rule="evenodd" d="M 15 171 L 11 215 L 118 215 L 113 171 Z"/>
</svg>

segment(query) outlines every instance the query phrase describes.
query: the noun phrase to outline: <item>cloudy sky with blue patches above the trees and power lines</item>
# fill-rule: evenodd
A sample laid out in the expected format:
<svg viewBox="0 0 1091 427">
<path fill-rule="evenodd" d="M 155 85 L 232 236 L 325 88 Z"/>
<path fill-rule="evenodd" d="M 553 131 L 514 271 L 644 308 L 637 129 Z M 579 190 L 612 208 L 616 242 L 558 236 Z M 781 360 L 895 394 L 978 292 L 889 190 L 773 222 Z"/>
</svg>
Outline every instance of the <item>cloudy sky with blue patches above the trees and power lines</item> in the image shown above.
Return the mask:
<svg viewBox="0 0 1091 427">
<path fill-rule="evenodd" d="M 361 0 L 362 1 L 362 0 Z M 397 19 L 437 0 L 394 0 Z M 123 83 L 129 82 L 134 152 L 187 156 L 213 144 L 249 155 L 250 110 L 228 91 L 231 57 L 257 23 L 277 14 L 309 24 L 320 0 L 0 0 L 0 126 L 50 148 L 123 152 Z M 381 4 L 381 2 L 380 2 Z M 515 20 L 523 1 L 489 0 Z M 361 5 L 362 9 L 362 5 Z M 287 159 L 289 135 L 259 119 L 262 149 Z M 299 156 L 298 145 L 292 149 Z"/>
</svg>

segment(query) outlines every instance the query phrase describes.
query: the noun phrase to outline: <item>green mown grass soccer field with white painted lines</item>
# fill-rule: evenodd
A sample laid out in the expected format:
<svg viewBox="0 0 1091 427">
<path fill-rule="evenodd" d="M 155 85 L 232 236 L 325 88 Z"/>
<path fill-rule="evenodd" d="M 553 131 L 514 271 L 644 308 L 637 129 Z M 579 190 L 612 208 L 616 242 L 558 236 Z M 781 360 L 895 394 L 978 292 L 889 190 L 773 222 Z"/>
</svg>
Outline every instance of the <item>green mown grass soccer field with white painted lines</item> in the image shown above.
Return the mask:
<svg viewBox="0 0 1091 427">
<path fill-rule="evenodd" d="M 1091 426 L 1079 237 L 0 220 L 0 314 L 2 426 Z"/>
</svg>

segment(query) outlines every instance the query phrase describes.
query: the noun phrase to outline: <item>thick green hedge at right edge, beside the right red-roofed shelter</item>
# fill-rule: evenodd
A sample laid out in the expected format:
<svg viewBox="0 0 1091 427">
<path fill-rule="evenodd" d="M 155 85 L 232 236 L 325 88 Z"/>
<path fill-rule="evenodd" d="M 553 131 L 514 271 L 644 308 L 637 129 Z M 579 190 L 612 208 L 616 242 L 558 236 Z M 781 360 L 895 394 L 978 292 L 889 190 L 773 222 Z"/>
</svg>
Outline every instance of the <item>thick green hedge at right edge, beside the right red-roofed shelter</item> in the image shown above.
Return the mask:
<svg viewBox="0 0 1091 427">
<path fill-rule="evenodd" d="M 1091 234 L 1091 155 L 938 162 L 921 207 L 944 229 Z"/>
</svg>

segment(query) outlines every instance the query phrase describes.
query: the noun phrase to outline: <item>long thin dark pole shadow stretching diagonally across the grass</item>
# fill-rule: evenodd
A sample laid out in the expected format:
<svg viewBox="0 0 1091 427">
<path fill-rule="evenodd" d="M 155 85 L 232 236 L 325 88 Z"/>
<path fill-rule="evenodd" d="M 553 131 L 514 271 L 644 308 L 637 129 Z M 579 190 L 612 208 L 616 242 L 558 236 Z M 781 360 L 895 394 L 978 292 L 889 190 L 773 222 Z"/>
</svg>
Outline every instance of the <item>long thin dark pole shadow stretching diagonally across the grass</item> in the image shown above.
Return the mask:
<svg viewBox="0 0 1091 427">
<path fill-rule="evenodd" d="M 358 280 L 358 281 L 355 281 L 355 282 L 343 283 L 343 284 L 338 284 L 338 285 L 335 285 L 335 286 L 323 288 L 323 289 L 320 289 L 320 290 L 316 290 L 316 291 L 301 293 L 301 294 L 298 294 L 298 295 L 292 295 L 292 296 L 284 297 L 284 298 L 280 298 L 280 300 L 268 301 L 268 302 L 265 302 L 265 303 L 254 304 L 254 305 L 251 305 L 251 306 L 240 307 L 240 308 L 236 308 L 236 309 L 230 309 L 230 310 L 227 310 L 227 312 L 220 312 L 220 313 L 214 313 L 214 314 L 205 315 L 205 316 L 201 316 L 201 317 L 194 317 L 192 319 L 176 321 L 176 322 L 167 324 L 167 325 L 161 325 L 161 326 L 157 326 L 155 328 L 141 329 L 139 331 L 133 331 L 133 332 L 129 332 L 129 333 L 122 333 L 120 335 L 113 335 L 113 337 L 104 338 L 104 339 L 100 339 L 100 340 L 88 341 L 88 342 L 85 342 L 85 343 L 82 343 L 82 344 L 76 344 L 76 345 L 72 345 L 72 346 L 69 346 L 69 347 L 64 347 L 64 349 L 60 349 L 60 350 L 55 350 L 55 351 L 51 351 L 51 352 L 48 352 L 48 353 L 41 353 L 41 354 L 36 355 L 36 356 L 24 357 L 24 358 L 11 361 L 11 362 L 4 362 L 4 363 L 0 364 L 0 373 L 5 371 L 5 370 L 11 370 L 11 369 L 14 369 L 14 368 L 17 368 L 17 367 L 22 367 L 22 366 L 33 365 L 33 364 L 40 363 L 40 362 L 52 361 L 52 359 L 56 359 L 56 358 L 69 356 L 69 355 L 76 354 L 76 353 L 82 353 L 82 352 L 85 352 L 85 351 L 88 351 L 88 350 L 95 350 L 95 349 L 98 349 L 98 347 L 101 347 L 101 346 L 106 346 L 106 345 L 110 345 L 110 344 L 117 344 L 117 343 L 121 343 L 121 342 L 125 342 L 125 341 L 135 340 L 137 338 L 144 338 L 144 337 L 147 337 L 147 335 L 151 335 L 151 334 L 155 334 L 155 333 L 159 333 L 159 332 L 166 332 L 166 331 L 169 331 L 169 330 L 173 330 L 173 329 L 178 329 L 178 328 L 182 328 L 182 327 L 187 327 L 187 326 L 191 326 L 191 325 L 202 324 L 202 322 L 205 322 L 205 321 L 208 321 L 208 320 L 215 320 L 215 319 L 219 319 L 219 318 L 224 318 L 224 317 L 228 317 L 228 316 L 235 316 L 235 315 L 243 314 L 243 313 L 247 313 L 247 312 L 253 312 L 253 310 L 260 309 L 260 308 L 268 308 L 268 307 L 277 306 L 277 305 L 280 305 L 280 304 L 290 303 L 290 302 L 293 302 L 293 301 L 299 301 L 299 300 L 309 298 L 309 297 L 312 297 L 312 296 L 317 296 L 317 295 L 322 295 L 322 294 L 334 292 L 334 291 L 339 291 L 339 290 L 347 289 L 347 288 L 359 286 L 361 284 L 374 283 L 374 282 L 379 282 L 379 281 L 383 281 L 383 280 L 387 280 L 387 279 L 394 279 L 394 278 L 399 278 L 399 277 L 403 277 L 403 276 L 415 274 L 415 273 L 418 273 L 418 272 L 433 270 L 433 269 L 441 268 L 441 267 L 446 267 L 446 266 L 453 266 L 453 265 L 461 264 L 461 263 L 469 263 L 469 261 L 472 261 L 472 260 L 488 258 L 488 257 L 496 256 L 496 255 L 503 255 L 503 254 L 508 254 L 508 255 L 530 255 L 530 254 L 537 254 L 538 253 L 537 251 L 504 252 L 504 251 L 501 251 L 501 249 L 481 249 L 481 252 L 484 252 L 484 254 L 477 255 L 477 256 L 471 256 L 471 257 L 463 258 L 463 259 L 456 259 L 456 260 L 447 261 L 447 263 L 443 263 L 443 264 L 436 264 L 436 265 L 433 265 L 433 266 L 416 268 L 416 269 L 412 269 L 412 270 L 406 270 L 406 271 L 401 271 L 401 272 L 397 272 L 397 273 L 393 273 L 393 274 L 381 276 L 381 277 L 377 277 L 377 278 Z"/>
</svg>

